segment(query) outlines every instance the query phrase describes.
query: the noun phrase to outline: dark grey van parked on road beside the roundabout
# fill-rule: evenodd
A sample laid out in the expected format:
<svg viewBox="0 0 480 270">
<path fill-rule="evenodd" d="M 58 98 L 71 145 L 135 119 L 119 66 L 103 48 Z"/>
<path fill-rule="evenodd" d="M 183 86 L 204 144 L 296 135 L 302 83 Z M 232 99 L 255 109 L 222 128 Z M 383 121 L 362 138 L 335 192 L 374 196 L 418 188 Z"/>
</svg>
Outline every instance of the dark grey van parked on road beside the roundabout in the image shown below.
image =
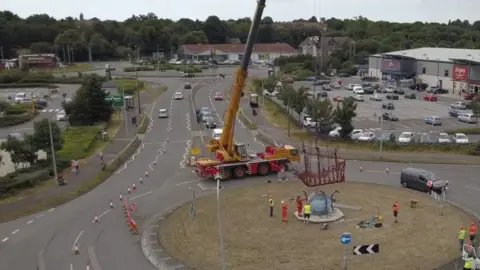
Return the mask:
<svg viewBox="0 0 480 270">
<path fill-rule="evenodd" d="M 433 190 L 440 190 L 447 186 L 445 180 L 441 180 L 434 173 L 416 168 L 405 168 L 400 173 L 400 184 L 404 188 L 428 192 L 427 182 L 433 182 Z"/>
</svg>

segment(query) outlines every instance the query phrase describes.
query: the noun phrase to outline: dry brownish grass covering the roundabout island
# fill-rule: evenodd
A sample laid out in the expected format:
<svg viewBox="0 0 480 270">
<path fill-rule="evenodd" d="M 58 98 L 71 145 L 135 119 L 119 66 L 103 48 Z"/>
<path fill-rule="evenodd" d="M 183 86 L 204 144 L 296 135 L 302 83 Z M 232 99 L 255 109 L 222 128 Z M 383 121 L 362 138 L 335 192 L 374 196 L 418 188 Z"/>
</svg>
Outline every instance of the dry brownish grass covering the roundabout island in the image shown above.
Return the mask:
<svg viewBox="0 0 480 270">
<path fill-rule="evenodd" d="M 352 234 L 348 247 L 349 269 L 432 269 L 459 256 L 456 232 L 471 218 L 445 205 L 444 215 L 428 196 L 392 187 L 348 183 L 322 187 L 335 189 L 339 203 L 363 207 L 361 211 L 342 209 L 345 221 L 332 224 L 328 231 L 320 225 L 297 221 L 290 204 L 290 223 L 281 222 L 281 210 L 268 217 L 266 194 L 277 205 L 307 190 L 300 182 L 260 184 L 222 194 L 225 250 L 228 269 L 341 269 L 343 232 Z M 313 190 L 308 190 L 310 193 Z M 419 201 L 409 208 L 410 199 Z M 401 204 L 399 223 L 393 223 L 391 206 Z M 160 241 L 170 256 L 196 269 L 220 269 L 215 196 L 197 200 L 197 217 L 189 216 L 190 205 L 173 212 L 160 227 Z M 359 220 L 369 220 L 378 212 L 385 217 L 379 229 L 356 228 Z M 353 256 L 354 245 L 380 244 L 380 253 Z"/>
</svg>

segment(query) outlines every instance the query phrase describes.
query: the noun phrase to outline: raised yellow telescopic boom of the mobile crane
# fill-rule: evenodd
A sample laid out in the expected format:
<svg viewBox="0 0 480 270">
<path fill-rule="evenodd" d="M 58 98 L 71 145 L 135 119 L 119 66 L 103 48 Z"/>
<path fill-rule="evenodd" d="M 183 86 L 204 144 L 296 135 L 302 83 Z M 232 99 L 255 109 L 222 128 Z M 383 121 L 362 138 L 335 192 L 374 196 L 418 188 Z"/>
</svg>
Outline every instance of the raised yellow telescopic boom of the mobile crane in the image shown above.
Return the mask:
<svg viewBox="0 0 480 270">
<path fill-rule="evenodd" d="M 245 81 L 248 76 L 248 66 L 250 64 L 250 57 L 252 55 L 253 46 L 257 37 L 260 22 L 262 20 L 263 10 L 265 8 L 266 0 L 258 0 L 255 15 L 253 17 L 252 25 L 248 33 L 247 43 L 245 44 L 245 51 L 240 67 L 235 74 L 235 84 L 230 95 L 230 105 L 225 113 L 225 121 L 223 133 L 219 140 L 212 140 L 207 144 L 207 150 L 216 152 L 224 161 L 238 161 L 241 159 L 234 147 L 233 135 L 235 131 L 235 119 L 240 107 L 240 99 L 242 97 Z"/>
</svg>

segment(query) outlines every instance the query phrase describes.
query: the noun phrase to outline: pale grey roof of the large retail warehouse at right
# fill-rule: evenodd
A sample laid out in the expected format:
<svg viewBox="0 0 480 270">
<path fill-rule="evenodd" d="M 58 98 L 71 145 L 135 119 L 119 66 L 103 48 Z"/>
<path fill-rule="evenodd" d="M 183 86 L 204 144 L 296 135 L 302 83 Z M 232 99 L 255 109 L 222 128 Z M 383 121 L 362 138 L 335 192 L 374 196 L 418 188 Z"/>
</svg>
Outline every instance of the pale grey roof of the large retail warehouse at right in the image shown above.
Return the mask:
<svg viewBox="0 0 480 270">
<path fill-rule="evenodd" d="M 411 50 L 375 54 L 373 56 L 410 57 L 417 60 L 442 62 L 480 62 L 480 50 L 423 47 Z"/>
</svg>

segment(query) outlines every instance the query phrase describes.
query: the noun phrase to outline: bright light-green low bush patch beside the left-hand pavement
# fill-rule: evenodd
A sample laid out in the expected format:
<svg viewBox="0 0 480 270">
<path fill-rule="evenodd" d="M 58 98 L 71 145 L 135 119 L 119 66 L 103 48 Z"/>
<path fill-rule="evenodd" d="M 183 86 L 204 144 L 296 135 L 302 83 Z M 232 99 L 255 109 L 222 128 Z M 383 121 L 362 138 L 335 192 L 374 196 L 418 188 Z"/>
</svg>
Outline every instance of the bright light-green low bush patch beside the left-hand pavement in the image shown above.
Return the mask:
<svg viewBox="0 0 480 270">
<path fill-rule="evenodd" d="M 64 144 L 62 150 L 57 152 L 59 158 L 64 160 L 78 160 L 89 155 L 90 148 L 100 133 L 100 127 L 69 128 L 62 134 Z"/>
</svg>

